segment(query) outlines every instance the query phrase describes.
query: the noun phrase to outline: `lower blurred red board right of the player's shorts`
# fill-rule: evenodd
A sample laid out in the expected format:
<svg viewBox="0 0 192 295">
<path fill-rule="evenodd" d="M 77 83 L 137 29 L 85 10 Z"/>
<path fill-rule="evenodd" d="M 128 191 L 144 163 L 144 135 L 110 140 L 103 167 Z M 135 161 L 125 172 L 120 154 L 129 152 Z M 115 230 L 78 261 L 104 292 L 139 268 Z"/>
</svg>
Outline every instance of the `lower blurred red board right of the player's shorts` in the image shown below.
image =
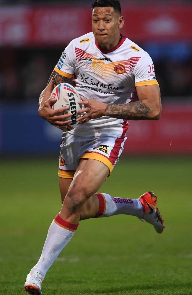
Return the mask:
<svg viewBox="0 0 192 295">
<path fill-rule="evenodd" d="M 192 105 L 162 106 L 159 121 L 129 121 L 123 155 L 192 152 Z"/>
</svg>

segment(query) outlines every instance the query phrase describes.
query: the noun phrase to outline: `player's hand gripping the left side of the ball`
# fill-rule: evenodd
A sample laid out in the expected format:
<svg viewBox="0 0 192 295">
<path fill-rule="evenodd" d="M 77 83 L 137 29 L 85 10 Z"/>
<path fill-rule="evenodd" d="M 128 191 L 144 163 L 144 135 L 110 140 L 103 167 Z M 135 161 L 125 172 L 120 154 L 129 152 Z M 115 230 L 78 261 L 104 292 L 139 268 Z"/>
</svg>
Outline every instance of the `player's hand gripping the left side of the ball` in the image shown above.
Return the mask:
<svg viewBox="0 0 192 295">
<path fill-rule="evenodd" d="M 51 125 L 56 126 L 61 130 L 66 129 L 66 124 L 71 122 L 72 120 L 69 119 L 72 116 L 71 113 L 62 115 L 63 112 L 67 112 L 69 109 L 67 106 L 61 109 L 53 110 L 52 106 L 57 101 L 57 99 L 49 98 L 43 103 L 43 106 L 39 107 L 39 115 L 41 118 L 47 120 Z"/>
</svg>

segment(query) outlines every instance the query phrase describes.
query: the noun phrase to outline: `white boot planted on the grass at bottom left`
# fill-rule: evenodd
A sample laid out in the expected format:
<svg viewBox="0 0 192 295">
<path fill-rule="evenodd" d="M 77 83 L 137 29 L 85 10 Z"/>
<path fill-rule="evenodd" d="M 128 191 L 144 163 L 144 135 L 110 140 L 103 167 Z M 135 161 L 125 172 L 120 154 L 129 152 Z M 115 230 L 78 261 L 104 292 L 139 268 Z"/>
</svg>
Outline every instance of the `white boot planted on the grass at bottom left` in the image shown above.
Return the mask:
<svg viewBox="0 0 192 295">
<path fill-rule="evenodd" d="M 24 285 L 24 291 L 32 295 L 41 294 L 41 284 L 43 281 L 43 274 L 40 271 L 32 270 L 28 273 Z"/>
</svg>

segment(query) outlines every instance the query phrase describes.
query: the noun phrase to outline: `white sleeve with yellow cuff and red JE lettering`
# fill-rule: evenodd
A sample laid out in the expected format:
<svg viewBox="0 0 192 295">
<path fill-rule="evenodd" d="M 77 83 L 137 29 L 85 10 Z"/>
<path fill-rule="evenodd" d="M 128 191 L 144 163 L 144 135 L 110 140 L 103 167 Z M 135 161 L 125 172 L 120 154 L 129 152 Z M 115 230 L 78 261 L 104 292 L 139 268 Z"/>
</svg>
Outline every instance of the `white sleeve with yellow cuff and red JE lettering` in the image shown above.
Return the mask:
<svg viewBox="0 0 192 295">
<path fill-rule="evenodd" d="M 135 86 L 159 85 L 156 80 L 154 64 L 148 53 L 145 53 L 134 69 Z"/>
</svg>

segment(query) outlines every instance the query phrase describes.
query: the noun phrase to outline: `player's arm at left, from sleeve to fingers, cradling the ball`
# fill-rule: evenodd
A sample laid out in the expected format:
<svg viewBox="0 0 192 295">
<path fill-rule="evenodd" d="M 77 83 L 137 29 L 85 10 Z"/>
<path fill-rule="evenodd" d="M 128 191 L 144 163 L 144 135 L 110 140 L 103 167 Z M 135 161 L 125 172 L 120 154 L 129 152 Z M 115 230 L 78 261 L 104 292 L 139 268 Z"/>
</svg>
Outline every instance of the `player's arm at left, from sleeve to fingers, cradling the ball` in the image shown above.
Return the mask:
<svg viewBox="0 0 192 295">
<path fill-rule="evenodd" d="M 71 122 L 68 118 L 72 114 L 60 115 L 60 113 L 68 110 L 67 107 L 53 111 L 52 106 L 56 102 L 56 99 L 53 99 L 50 96 L 51 92 L 58 84 L 67 82 L 68 80 L 69 78 L 62 76 L 53 70 L 46 88 L 41 92 L 39 97 L 39 115 L 51 125 L 62 130 L 66 128 L 66 123 Z"/>
</svg>

